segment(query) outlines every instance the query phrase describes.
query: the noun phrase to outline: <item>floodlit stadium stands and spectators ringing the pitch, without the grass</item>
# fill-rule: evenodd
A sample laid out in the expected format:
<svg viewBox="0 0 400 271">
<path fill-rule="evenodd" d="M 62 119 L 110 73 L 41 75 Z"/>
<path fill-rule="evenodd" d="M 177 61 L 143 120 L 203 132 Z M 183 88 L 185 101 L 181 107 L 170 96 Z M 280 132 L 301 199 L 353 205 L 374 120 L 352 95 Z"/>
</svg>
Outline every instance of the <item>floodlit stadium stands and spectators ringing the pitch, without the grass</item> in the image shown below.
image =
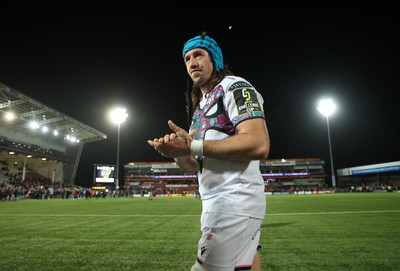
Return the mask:
<svg viewBox="0 0 400 271">
<path fill-rule="evenodd" d="M 18 90 L 0 84 L 0 180 L 22 182 L 27 186 L 40 184 L 52 196 L 54 190 L 72 194 L 90 190 L 116 194 L 114 165 L 93 165 L 93 186 L 76 187 L 76 171 L 85 144 L 106 140 L 107 135 L 70 118 Z M 107 180 L 96 167 L 111 170 Z M 319 158 L 269 159 L 261 161 L 260 171 L 265 180 L 265 192 L 329 193 L 332 190 L 396 190 L 400 182 L 400 162 L 364 165 L 339 169 L 338 184 L 332 187 L 325 172 L 325 161 Z M 12 178 L 10 178 L 12 177 Z M 131 162 L 124 165 L 124 194 L 170 195 L 196 194 L 197 178 L 186 175 L 171 162 Z M 57 188 L 47 188 L 57 186 Z M 360 188 L 361 187 L 361 188 Z M 25 187 L 26 188 L 26 187 Z M 125 191 L 126 190 L 126 191 Z M 86 192 L 85 192 L 86 193 Z M 117 191 L 121 193 L 121 191 Z M 22 193 L 25 194 L 26 193 Z M 65 197 L 58 193 L 54 197 Z"/>
</svg>

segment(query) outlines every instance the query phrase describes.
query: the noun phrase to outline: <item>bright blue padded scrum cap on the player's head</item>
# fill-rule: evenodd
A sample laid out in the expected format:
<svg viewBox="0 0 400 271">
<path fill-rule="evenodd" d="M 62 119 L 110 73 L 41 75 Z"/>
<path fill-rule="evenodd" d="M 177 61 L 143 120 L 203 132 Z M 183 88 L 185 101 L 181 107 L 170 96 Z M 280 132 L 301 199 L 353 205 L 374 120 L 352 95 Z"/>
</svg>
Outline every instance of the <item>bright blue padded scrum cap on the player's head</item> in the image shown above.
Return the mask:
<svg viewBox="0 0 400 271">
<path fill-rule="evenodd" d="M 183 47 L 182 56 L 185 58 L 185 54 L 195 48 L 201 48 L 208 51 L 214 59 L 215 69 L 217 72 L 222 70 L 224 67 L 224 59 L 222 57 L 221 48 L 219 48 L 217 42 L 209 36 L 196 36 L 185 43 Z"/>
</svg>

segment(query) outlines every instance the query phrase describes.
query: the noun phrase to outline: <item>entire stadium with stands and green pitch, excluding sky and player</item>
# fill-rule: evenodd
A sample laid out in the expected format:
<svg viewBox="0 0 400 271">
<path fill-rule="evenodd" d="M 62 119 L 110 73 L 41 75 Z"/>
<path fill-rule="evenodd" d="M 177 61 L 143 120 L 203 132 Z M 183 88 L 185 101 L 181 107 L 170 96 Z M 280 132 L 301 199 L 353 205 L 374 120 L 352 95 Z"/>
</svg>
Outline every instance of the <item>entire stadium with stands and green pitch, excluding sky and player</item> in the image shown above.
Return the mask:
<svg viewBox="0 0 400 271">
<path fill-rule="evenodd" d="M 93 186 L 77 186 L 84 145 L 107 136 L 6 85 L 0 93 L 2 270 L 189 270 L 195 175 L 131 162 L 115 189 L 113 165 L 96 164 Z M 337 187 L 319 158 L 263 160 L 260 170 L 263 270 L 398 270 L 400 162 L 339 169 Z"/>
</svg>

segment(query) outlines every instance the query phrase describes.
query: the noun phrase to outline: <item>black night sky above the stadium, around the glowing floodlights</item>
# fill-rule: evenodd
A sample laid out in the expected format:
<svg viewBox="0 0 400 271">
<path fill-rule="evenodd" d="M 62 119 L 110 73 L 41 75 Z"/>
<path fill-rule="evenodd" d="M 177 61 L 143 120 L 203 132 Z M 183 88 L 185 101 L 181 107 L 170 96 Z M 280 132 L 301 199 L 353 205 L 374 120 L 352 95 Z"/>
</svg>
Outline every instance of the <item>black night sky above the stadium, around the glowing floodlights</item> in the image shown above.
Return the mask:
<svg viewBox="0 0 400 271">
<path fill-rule="evenodd" d="M 338 107 L 329 118 L 335 169 L 399 161 L 394 3 L 262 10 L 232 4 L 214 12 L 205 2 L 174 12 L 84 1 L 9 7 L 0 24 L 0 82 L 107 134 L 83 149 L 76 183 L 91 185 L 94 164 L 116 163 L 117 126 L 107 116 L 113 106 L 129 114 L 121 125 L 121 168 L 171 161 L 146 141 L 169 133 L 169 119 L 187 128 L 182 46 L 205 30 L 229 68 L 264 96 L 268 159 L 321 158 L 329 174 L 327 123 L 317 105 L 330 97 Z"/>
</svg>

